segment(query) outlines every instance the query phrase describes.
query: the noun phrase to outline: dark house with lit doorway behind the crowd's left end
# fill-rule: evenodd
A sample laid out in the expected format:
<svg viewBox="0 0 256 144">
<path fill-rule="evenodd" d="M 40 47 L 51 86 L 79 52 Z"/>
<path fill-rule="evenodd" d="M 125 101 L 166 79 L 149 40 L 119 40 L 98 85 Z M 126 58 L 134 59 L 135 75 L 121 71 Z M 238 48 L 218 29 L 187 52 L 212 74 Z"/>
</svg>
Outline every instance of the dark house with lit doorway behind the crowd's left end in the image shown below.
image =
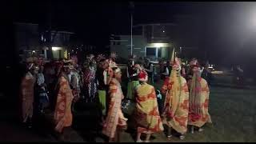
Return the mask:
<svg viewBox="0 0 256 144">
<path fill-rule="evenodd" d="M 15 22 L 16 54 L 23 59 L 32 55 L 46 59 L 69 58 L 72 34 L 74 33 L 56 30 L 51 30 L 50 34 L 48 31 L 40 33 L 38 24 Z"/>
</svg>

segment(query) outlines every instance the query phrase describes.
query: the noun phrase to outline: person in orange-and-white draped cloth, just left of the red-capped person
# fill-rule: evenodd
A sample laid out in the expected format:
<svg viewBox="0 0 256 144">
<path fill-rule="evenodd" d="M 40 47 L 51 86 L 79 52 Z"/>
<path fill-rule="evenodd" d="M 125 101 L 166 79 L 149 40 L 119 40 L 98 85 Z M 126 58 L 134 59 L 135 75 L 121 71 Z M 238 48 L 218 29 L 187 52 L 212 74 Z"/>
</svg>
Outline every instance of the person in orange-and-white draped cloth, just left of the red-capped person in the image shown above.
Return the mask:
<svg viewBox="0 0 256 144">
<path fill-rule="evenodd" d="M 110 138 L 110 142 L 120 142 L 120 130 L 126 128 L 127 118 L 122 114 L 122 99 L 124 95 L 122 94 L 122 88 L 120 85 L 122 72 L 121 70 L 113 65 L 113 78 L 110 78 L 110 102 L 109 102 L 109 110 L 106 116 L 106 122 L 103 126 L 102 134 L 105 134 Z"/>
</svg>

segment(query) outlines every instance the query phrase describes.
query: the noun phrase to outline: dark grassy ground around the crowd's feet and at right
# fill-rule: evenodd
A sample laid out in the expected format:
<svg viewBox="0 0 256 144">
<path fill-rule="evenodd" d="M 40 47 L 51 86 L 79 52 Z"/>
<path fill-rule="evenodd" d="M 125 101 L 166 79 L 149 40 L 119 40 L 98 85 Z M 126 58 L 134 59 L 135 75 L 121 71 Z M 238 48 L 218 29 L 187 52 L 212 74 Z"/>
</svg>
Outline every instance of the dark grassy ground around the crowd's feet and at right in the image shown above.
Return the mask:
<svg viewBox="0 0 256 144">
<path fill-rule="evenodd" d="M 156 89 L 160 86 L 162 82 L 155 84 Z M 234 86 L 210 86 L 209 110 L 213 123 L 206 124 L 204 131 L 187 133 L 184 140 L 174 136 L 170 141 L 166 140 L 162 132 L 154 134 L 151 142 L 256 142 L 256 88 L 232 87 Z M 88 119 L 94 121 L 93 118 Z M 90 120 L 85 122 L 85 126 L 86 123 L 88 125 Z M 1 135 L 4 136 L 0 138 L 2 142 L 56 142 L 47 132 L 41 136 L 36 131 L 26 130 L 8 122 L 1 122 L 1 124 L 6 131 L 2 131 Z M 134 131 L 127 130 L 122 133 L 121 141 L 134 142 L 134 134 Z M 104 142 L 102 136 L 89 130 L 72 134 L 71 137 L 71 142 Z M 90 137 L 90 140 L 83 137 Z M 77 140 L 73 141 L 74 139 Z"/>
</svg>

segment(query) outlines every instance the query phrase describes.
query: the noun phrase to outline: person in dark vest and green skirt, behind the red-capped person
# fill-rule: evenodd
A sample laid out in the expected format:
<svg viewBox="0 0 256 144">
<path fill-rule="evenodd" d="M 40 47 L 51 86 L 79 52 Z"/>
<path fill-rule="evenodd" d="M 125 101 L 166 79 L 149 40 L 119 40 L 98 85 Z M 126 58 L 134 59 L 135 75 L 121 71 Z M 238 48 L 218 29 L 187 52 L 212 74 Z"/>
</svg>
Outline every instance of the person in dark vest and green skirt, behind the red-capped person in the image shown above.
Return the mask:
<svg viewBox="0 0 256 144">
<path fill-rule="evenodd" d="M 138 73 L 140 71 L 140 66 L 138 63 L 134 62 L 134 56 L 130 58 L 127 67 L 127 77 L 129 78 L 128 86 L 127 86 L 127 94 L 126 98 L 134 101 L 134 88 L 138 86 Z"/>
</svg>

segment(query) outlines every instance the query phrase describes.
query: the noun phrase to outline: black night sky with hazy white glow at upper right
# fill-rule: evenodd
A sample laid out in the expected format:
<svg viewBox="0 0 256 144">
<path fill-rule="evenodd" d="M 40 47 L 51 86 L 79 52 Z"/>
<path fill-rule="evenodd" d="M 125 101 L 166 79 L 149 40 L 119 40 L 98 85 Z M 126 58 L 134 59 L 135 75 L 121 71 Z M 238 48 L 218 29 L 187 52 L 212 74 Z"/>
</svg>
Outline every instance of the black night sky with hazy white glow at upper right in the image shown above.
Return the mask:
<svg viewBox="0 0 256 144">
<path fill-rule="evenodd" d="M 130 33 L 129 2 L 16 1 L 15 22 L 39 23 L 74 31 L 83 42 L 106 46 L 110 34 Z M 218 64 L 255 57 L 255 2 L 134 2 L 134 25 L 173 22 L 174 14 L 199 15 L 203 22 L 201 50 Z M 51 11 L 49 13 L 48 11 Z M 254 27 L 254 28 L 252 28 Z M 242 60 L 241 60 L 242 59 Z"/>
</svg>

